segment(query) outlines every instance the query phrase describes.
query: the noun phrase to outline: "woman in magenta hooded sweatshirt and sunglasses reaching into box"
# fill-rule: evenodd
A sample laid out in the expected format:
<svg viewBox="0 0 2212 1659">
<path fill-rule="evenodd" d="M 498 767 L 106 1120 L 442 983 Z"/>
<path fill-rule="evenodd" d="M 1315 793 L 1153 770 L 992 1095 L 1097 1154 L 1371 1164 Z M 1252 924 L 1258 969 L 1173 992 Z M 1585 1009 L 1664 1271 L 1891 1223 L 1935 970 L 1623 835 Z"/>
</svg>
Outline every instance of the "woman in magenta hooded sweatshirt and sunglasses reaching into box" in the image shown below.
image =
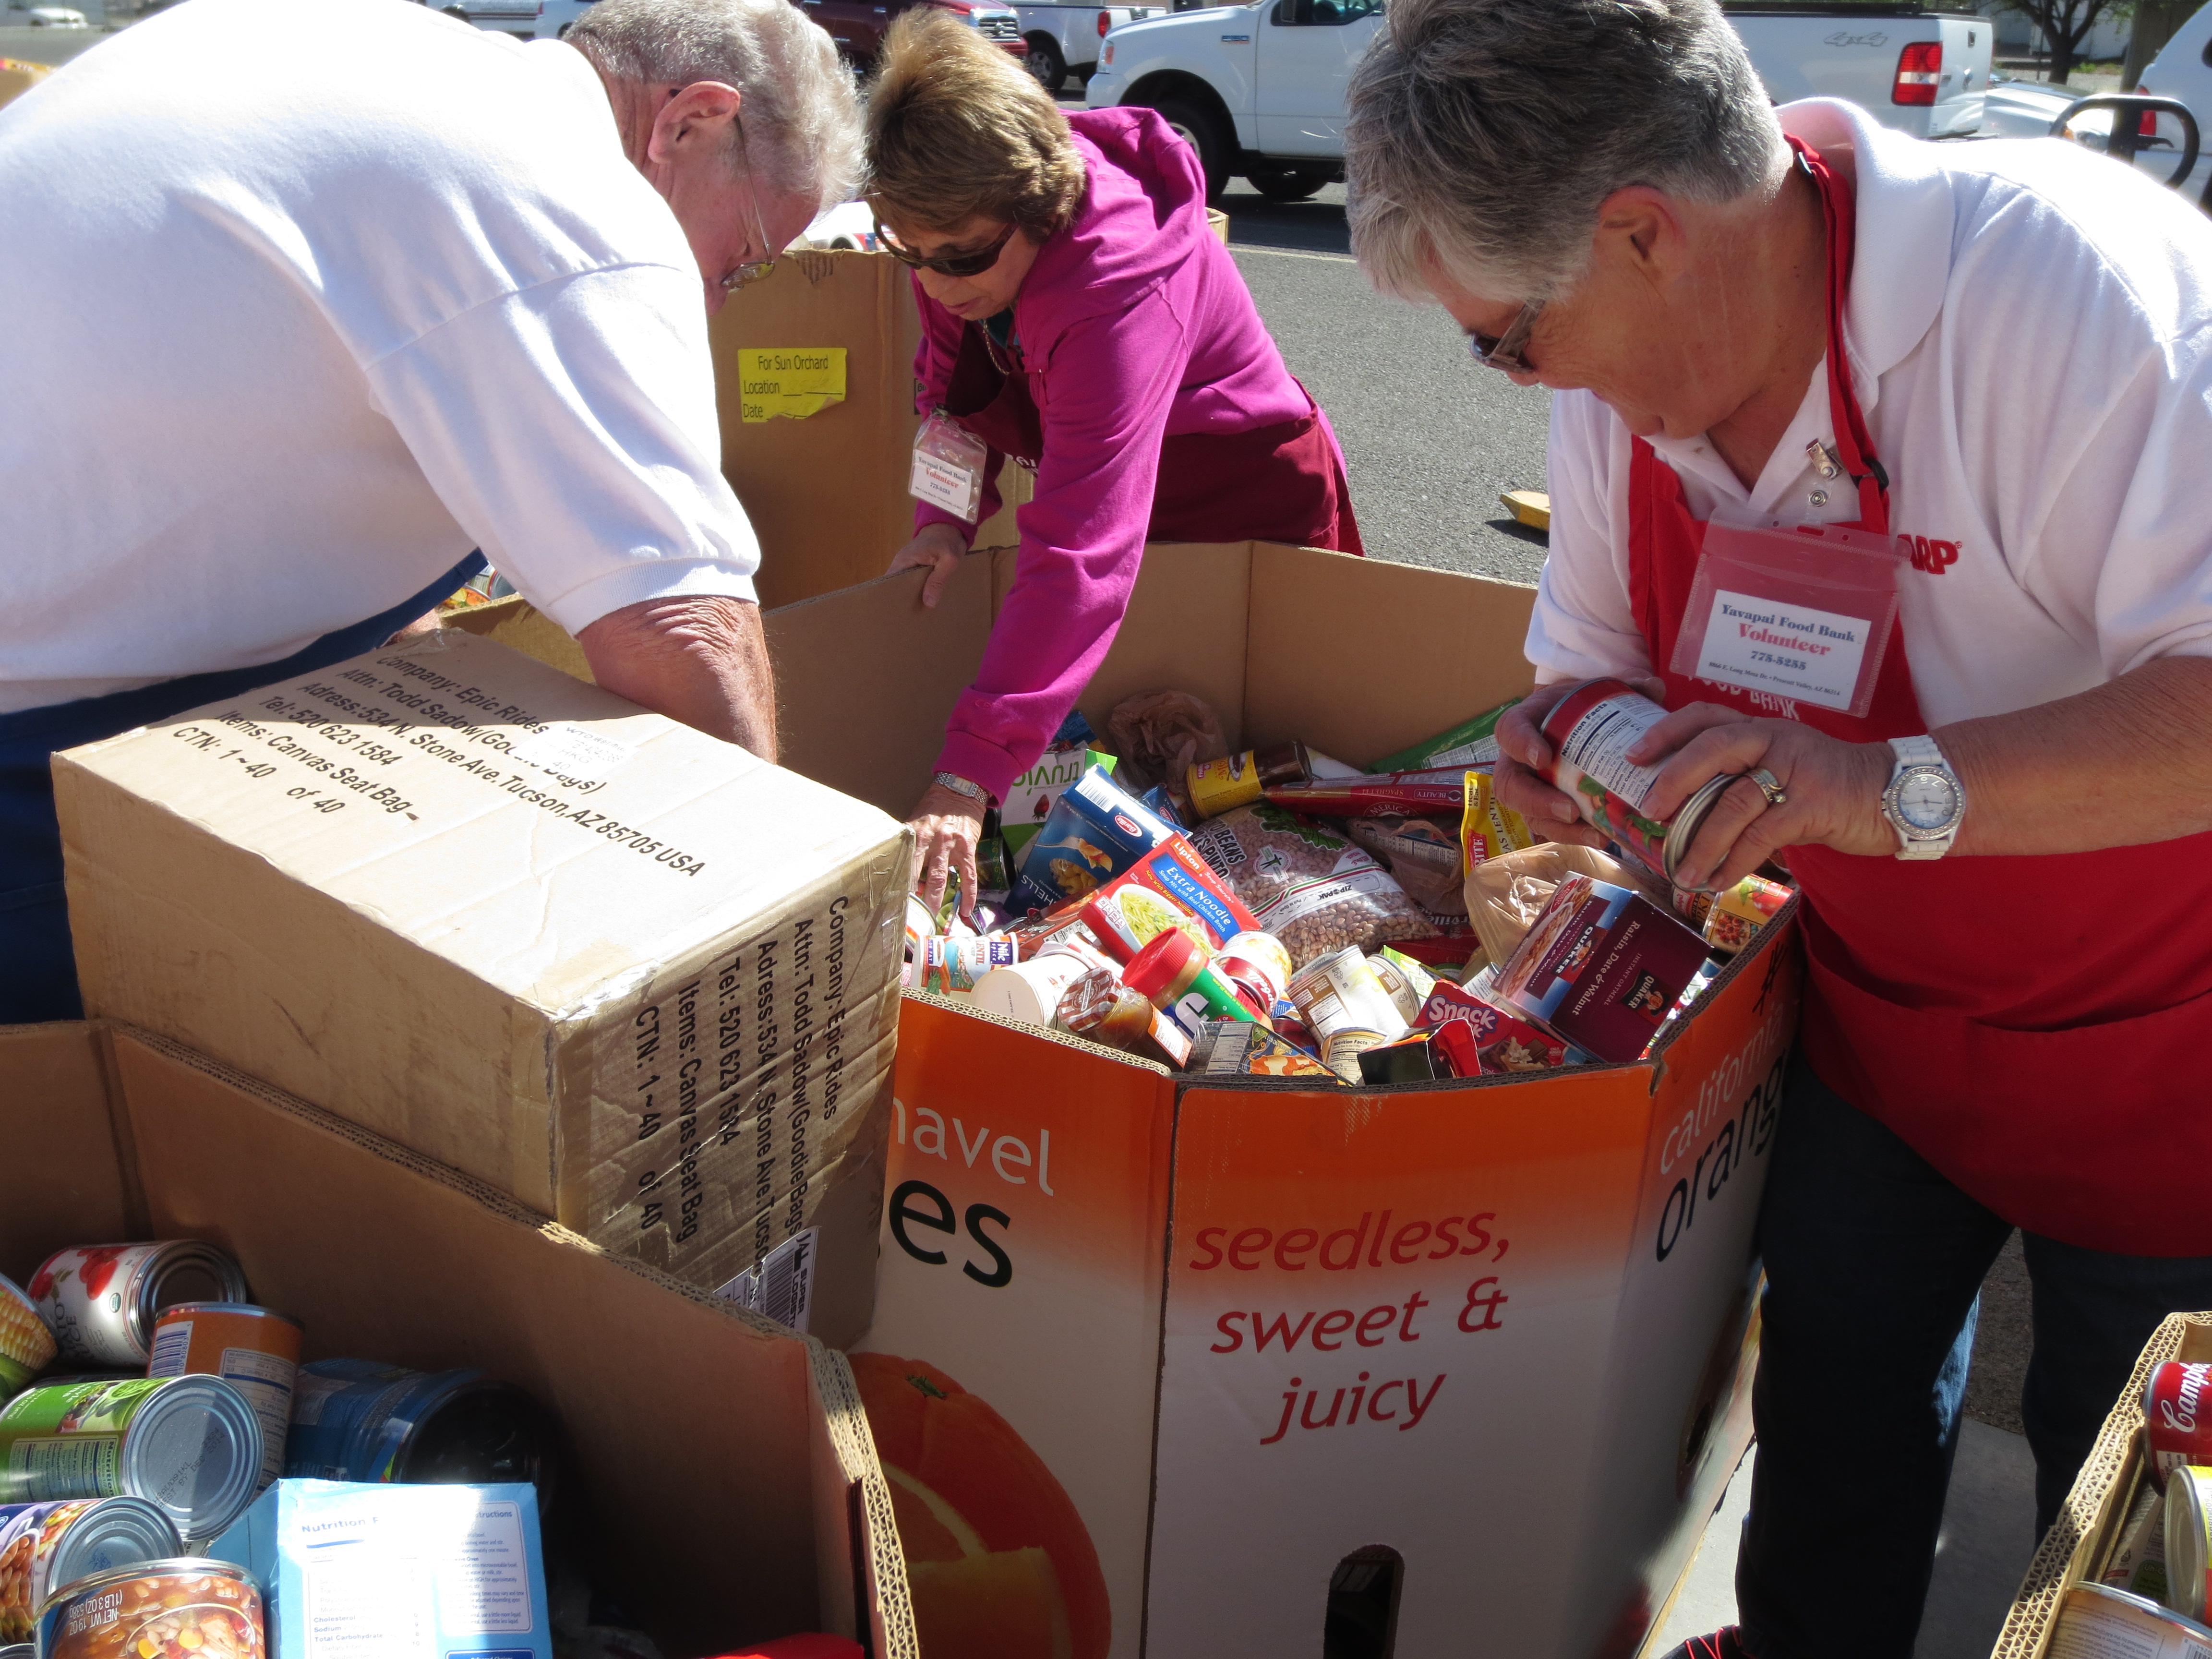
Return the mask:
<svg viewBox="0 0 2212 1659">
<path fill-rule="evenodd" d="M 1075 708 L 1148 540 L 1358 553 L 1360 538 L 1329 422 L 1159 115 L 1064 115 L 1009 53 L 925 7 L 891 27 L 867 104 L 869 201 L 922 312 L 918 409 L 980 440 L 982 480 L 973 518 L 920 502 L 891 568 L 933 566 L 936 604 L 998 511 L 1000 460 L 1037 471 L 1013 591 L 911 818 L 916 887 L 933 907 L 958 872 L 969 907 L 984 807 Z M 958 462 L 945 473 L 962 480 Z"/>
</svg>

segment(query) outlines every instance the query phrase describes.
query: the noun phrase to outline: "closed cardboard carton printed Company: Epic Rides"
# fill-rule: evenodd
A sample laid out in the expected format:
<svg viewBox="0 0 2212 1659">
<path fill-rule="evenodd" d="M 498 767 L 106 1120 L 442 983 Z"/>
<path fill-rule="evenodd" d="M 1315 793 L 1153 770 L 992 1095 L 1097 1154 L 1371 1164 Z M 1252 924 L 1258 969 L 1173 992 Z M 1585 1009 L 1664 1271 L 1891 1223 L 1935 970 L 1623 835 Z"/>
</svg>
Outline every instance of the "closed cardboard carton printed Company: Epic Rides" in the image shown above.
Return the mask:
<svg viewBox="0 0 2212 1659">
<path fill-rule="evenodd" d="M 442 633 L 55 757 L 86 1009 L 830 1340 L 867 1323 L 907 834 Z"/>
</svg>

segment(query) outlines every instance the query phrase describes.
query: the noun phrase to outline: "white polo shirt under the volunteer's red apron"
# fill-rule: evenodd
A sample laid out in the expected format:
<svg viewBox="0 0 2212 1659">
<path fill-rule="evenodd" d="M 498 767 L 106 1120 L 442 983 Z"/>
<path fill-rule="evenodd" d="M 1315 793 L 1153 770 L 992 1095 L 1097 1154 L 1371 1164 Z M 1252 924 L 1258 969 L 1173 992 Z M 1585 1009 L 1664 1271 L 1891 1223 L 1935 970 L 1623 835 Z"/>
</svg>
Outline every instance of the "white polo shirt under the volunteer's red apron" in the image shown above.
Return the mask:
<svg viewBox="0 0 2212 1659">
<path fill-rule="evenodd" d="M 1900 617 L 1929 726 L 2212 655 L 2212 221 L 2064 139 L 1927 144 L 1829 100 L 1778 115 L 1856 159 L 1845 349 L 1891 529 L 1916 538 Z M 1814 438 L 1834 442 L 1825 363 L 1752 489 L 1701 438 L 1652 447 L 1699 518 L 1858 518 Z M 1628 460 L 1595 396 L 1553 400 L 1542 679 L 1650 672 Z"/>
</svg>

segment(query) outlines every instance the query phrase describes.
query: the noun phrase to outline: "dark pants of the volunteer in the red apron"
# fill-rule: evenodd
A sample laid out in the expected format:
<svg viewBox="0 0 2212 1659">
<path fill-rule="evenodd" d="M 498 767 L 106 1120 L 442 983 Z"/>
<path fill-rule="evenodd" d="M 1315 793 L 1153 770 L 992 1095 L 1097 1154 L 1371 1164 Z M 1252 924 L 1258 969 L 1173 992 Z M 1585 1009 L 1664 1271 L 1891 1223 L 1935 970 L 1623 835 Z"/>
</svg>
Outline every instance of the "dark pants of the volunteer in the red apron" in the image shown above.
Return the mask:
<svg viewBox="0 0 2212 1659">
<path fill-rule="evenodd" d="M 2143 1203 L 2177 1201 L 2190 1197 L 2161 1194 L 2146 1168 Z M 1980 1285 L 2011 1232 L 1796 1062 L 1759 1212 L 1759 1462 L 1736 1557 L 1759 1659 L 1909 1659 Z M 2150 1332 L 2212 1307 L 2212 1256 L 2115 1256 L 2033 1232 L 2024 1248 L 2035 1354 L 2020 1407 L 2039 1535 Z"/>
</svg>

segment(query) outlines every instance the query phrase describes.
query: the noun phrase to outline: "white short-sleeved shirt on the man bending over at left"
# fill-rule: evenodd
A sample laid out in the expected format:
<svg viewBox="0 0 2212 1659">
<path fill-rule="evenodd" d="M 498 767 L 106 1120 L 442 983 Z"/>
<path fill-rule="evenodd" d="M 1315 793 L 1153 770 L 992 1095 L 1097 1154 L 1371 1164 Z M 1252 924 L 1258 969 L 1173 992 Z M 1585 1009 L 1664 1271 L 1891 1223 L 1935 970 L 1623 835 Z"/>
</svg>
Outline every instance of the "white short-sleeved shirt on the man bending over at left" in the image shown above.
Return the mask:
<svg viewBox="0 0 2212 1659">
<path fill-rule="evenodd" d="M 471 546 L 752 597 L 699 268 L 584 58 L 190 0 L 0 111 L 0 712 L 276 661 Z"/>
</svg>

